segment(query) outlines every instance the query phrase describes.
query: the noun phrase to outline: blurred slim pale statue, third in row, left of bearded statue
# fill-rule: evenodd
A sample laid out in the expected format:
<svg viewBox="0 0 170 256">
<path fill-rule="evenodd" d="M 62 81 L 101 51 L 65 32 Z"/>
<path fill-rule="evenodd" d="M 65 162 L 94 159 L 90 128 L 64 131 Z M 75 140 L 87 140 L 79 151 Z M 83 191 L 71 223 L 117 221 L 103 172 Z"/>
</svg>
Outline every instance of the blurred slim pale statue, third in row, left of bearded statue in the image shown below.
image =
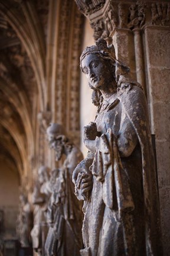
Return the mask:
<svg viewBox="0 0 170 256">
<path fill-rule="evenodd" d="M 32 203 L 34 204 L 34 228 L 31 231 L 32 247 L 41 256 L 45 256 L 44 245 L 48 233 L 47 206 L 51 195 L 49 178 L 48 168 L 42 165 L 38 169 L 38 180 L 32 193 Z"/>
</svg>

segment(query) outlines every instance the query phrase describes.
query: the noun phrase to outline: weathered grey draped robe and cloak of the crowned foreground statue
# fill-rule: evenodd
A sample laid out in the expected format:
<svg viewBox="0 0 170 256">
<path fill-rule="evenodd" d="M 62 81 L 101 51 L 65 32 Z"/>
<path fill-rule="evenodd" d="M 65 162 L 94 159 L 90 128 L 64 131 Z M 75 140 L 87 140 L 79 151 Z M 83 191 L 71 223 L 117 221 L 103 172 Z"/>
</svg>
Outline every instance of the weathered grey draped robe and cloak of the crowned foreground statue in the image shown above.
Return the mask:
<svg viewBox="0 0 170 256">
<path fill-rule="evenodd" d="M 96 117 L 99 137 L 96 151 L 80 163 L 93 175 L 93 188 L 84 201 L 81 255 L 162 255 L 155 164 L 146 98 L 141 88 L 121 89 Z M 120 135 L 133 152 L 122 157 Z M 123 149 L 122 149 L 123 151 Z M 83 166 L 84 165 L 84 166 Z"/>
</svg>

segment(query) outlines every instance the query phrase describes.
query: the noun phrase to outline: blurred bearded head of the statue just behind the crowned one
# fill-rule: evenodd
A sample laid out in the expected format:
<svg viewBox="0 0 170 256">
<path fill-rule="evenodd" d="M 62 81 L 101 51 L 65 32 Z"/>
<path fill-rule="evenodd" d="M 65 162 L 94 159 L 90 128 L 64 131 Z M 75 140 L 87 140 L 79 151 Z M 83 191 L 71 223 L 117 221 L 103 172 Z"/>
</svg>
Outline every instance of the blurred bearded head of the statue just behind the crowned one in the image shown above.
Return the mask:
<svg viewBox="0 0 170 256">
<path fill-rule="evenodd" d="M 64 145 L 68 140 L 64 127 L 61 126 L 61 124 L 51 123 L 47 128 L 47 137 L 50 148 L 55 150 L 56 160 L 60 160 L 62 154 L 64 153 Z"/>
</svg>

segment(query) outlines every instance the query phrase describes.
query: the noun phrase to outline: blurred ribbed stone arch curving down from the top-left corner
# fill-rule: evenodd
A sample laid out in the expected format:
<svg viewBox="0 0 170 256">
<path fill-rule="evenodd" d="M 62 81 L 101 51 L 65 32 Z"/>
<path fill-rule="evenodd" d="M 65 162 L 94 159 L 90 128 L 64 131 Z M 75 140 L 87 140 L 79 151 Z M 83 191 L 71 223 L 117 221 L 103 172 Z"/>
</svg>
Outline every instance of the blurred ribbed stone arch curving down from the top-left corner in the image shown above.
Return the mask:
<svg viewBox="0 0 170 256">
<path fill-rule="evenodd" d="M 45 42 L 42 28 L 31 2 L 22 2 L 22 15 L 21 11 L 18 12 L 16 5 L 16 2 L 12 5 L 8 0 L 2 0 L 0 3 L 1 14 L 14 28 L 30 57 L 38 86 L 40 108 L 43 111 L 47 101 L 47 93 L 45 87 Z"/>
</svg>

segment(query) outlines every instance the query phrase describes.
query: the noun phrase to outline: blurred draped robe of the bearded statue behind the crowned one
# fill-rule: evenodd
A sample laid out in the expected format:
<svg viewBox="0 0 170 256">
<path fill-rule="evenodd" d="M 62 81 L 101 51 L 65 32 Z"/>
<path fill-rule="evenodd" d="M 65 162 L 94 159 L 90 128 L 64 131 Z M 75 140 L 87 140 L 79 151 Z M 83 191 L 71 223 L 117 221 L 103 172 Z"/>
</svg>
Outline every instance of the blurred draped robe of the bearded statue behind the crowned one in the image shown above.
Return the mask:
<svg viewBox="0 0 170 256">
<path fill-rule="evenodd" d="M 74 195 L 74 184 L 71 180 L 73 170 L 82 158 L 80 150 L 73 146 L 63 166 L 58 169 L 55 190 L 48 209 L 51 226 L 45 241 L 46 256 L 79 256 L 83 247 L 82 203 Z"/>
</svg>

